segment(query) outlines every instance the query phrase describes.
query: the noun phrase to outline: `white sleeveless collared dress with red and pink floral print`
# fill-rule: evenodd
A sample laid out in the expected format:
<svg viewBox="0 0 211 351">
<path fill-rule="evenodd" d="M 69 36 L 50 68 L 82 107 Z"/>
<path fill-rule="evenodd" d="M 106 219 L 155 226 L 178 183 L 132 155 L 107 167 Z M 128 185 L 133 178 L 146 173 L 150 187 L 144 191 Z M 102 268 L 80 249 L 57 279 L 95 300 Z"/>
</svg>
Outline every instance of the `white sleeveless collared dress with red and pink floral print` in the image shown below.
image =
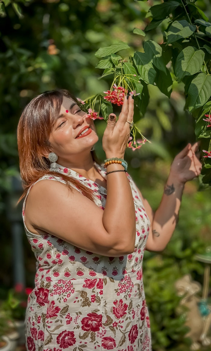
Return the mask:
<svg viewBox="0 0 211 351">
<path fill-rule="evenodd" d="M 106 179 L 106 170 L 96 163 L 95 166 Z M 107 192 L 104 187 L 69 168 L 59 167 L 64 174 L 94 190 L 95 202 L 104 210 Z M 120 257 L 98 255 L 53 235 L 29 232 L 24 220 L 29 188 L 23 221 L 37 259 L 37 272 L 26 309 L 28 351 L 152 350 L 142 280 L 150 222 L 138 189 L 126 174 L 134 198 L 136 239 L 135 251 Z M 46 175 L 38 181 L 41 179 L 64 183 L 59 174 Z"/>
</svg>

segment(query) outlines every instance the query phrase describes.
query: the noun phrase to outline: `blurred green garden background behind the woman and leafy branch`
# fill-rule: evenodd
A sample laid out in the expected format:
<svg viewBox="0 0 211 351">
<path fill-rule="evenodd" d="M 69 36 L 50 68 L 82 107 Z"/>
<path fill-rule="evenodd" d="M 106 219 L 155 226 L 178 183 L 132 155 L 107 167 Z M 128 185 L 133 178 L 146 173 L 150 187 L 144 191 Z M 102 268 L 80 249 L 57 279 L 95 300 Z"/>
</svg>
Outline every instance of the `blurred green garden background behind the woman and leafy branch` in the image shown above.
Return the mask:
<svg viewBox="0 0 211 351">
<path fill-rule="evenodd" d="M 34 287 L 35 258 L 24 233 L 21 208 L 14 210 L 21 195 L 13 177 L 19 176 L 16 131 L 23 108 L 36 95 L 54 88 L 68 89 L 82 100 L 107 91 L 111 81 L 99 79 L 102 70 L 95 68 L 95 52 L 116 41 L 130 46 L 121 52 L 126 59 L 136 50 L 143 51 L 143 37 L 133 29 L 144 29 L 150 21 L 148 9 L 160 3 L 23 0 L 19 3 L 23 15 L 18 15 L 18 7 L 6 7 L 6 15 L 0 19 L 0 300 L 8 298 L 16 283 Z M 196 1 L 196 5 L 210 16 L 209 0 Z M 145 38 L 161 43 L 162 26 L 147 32 Z M 152 144 L 126 151 L 129 173 L 153 210 L 161 200 L 174 156 L 195 141 L 195 121 L 184 111 L 183 90 L 183 83 L 174 80 L 168 99 L 156 86 L 148 85 L 150 102 L 139 127 Z M 100 136 L 95 150 L 104 160 L 101 139 L 106 123 L 95 124 Z M 185 186 L 179 223 L 167 248 L 162 253 L 145 251 L 143 277 L 155 351 L 190 349 L 185 314 L 178 313 L 181 298 L 174 285 L 188 273 L 203 285 L 205 264 L 195 255 L 205 254 L 211 245 L 210 234 L 211 190 L 193 180 Z"/>
</svg>

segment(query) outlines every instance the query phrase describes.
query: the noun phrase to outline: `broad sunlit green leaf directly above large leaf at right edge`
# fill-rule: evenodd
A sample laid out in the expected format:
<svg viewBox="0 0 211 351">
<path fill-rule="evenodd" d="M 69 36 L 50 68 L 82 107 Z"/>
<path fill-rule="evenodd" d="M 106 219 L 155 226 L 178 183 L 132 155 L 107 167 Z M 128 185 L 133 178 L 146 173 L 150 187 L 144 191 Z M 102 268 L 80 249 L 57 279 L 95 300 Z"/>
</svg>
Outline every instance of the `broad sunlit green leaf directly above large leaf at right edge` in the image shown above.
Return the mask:
<svg viewBox="0 0 211 351">
<path fill-rule="evenodd" d="M 174 73 L 178 81 L 180 81 L 185 75 L 193 75 L 199 72 L 203 65 L 204 52 L 197 50 L 193 46 L 185 47 L 178 55 Z"/>
</svg>

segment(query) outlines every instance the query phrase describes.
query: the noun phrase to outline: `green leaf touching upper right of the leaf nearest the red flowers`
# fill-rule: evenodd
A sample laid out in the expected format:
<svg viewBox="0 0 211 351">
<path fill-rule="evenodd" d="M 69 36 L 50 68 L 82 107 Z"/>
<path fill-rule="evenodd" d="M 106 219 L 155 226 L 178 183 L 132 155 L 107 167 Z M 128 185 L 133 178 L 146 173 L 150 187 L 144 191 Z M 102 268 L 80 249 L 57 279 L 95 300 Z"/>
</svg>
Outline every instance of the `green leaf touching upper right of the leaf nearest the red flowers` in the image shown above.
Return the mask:
<svg viewBox="0 0 211 351">
<path fill-rule="evenodd" d="M 146 52 L 147 56 L 155 67 L 160 69 L 163 72 L 166 72 L 166 66 L 162 59 L 162 48 L 154 40 L 146 40 L 143 42 L 143 49 Z"/>
</svg>

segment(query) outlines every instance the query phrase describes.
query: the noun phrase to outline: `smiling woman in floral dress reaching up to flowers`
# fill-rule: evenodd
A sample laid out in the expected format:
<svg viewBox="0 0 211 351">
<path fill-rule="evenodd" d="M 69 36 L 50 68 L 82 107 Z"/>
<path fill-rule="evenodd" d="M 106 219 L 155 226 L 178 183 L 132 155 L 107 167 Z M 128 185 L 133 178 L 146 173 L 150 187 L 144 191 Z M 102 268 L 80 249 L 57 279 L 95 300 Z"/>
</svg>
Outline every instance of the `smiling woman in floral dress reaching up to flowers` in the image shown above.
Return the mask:
<svg viewBox="0 0 211 351">
<path fill-rule="evenodd" d="M 45 92 L 21 115 L 23 219 L 37 258 L 26 311 L 29 351 L 151 350 L 143 252 L 165 248 L 184 184 L 201 164 L 198 144 L 188 144 L 175 157 L 153 214 L 125 172 L 133 104 L 127 97 L 118 121 L 109 116 L 106 168 L 91 151 L 98 140 L 94 122 L 68 92 Z"/>
</svg>

